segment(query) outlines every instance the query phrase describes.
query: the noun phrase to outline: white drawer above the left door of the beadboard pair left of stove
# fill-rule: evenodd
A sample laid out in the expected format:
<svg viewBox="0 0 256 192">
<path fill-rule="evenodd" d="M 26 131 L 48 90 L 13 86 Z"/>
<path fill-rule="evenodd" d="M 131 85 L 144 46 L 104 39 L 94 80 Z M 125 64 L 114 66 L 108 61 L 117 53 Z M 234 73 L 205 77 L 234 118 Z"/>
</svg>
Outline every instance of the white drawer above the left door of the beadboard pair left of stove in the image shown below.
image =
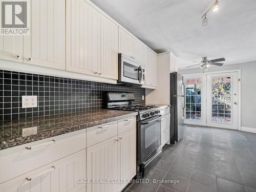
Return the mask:
<svg viewBox="0 0 256 192">
<path fill-rule="evenodd" d="M 117 121 L 87 128 L 87 147 L 117 135 Z"/>
</svg>

